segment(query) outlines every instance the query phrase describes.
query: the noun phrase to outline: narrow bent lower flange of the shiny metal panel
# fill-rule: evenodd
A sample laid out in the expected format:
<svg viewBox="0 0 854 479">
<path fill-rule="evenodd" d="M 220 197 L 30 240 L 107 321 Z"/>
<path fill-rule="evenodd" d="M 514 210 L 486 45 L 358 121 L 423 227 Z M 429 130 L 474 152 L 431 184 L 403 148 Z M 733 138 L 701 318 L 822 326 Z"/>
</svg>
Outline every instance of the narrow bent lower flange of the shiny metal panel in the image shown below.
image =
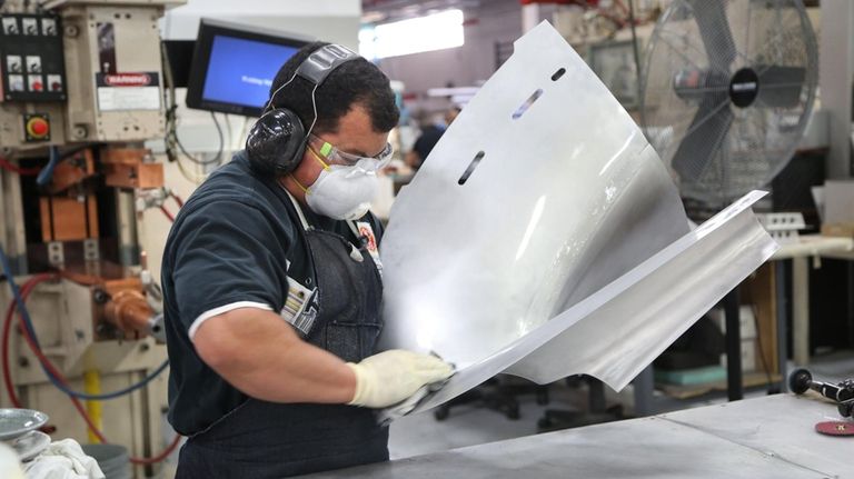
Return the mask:
<svg viewBox="0 0 854 479">
<path fill-rule="evenodd" d="M 622 389 L 778 248 L 749 209 L 765 194 L 746 194 L 546 325 L 459 370 L 411 412 L 502 371 L 539 383 L 587 373 Z"/>
</svg>

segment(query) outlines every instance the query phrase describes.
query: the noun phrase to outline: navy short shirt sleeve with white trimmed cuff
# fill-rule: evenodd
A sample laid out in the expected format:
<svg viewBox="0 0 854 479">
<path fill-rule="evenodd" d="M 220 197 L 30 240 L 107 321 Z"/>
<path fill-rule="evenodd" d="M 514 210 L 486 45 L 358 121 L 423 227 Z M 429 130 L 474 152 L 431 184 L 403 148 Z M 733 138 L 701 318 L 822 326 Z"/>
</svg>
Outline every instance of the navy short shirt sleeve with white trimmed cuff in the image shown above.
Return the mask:
<svg viewBox="0 0 854 479">
<path fill-rule="evenodd" d="M 190 339 L 203 321 L 231 309 L 281 309 L 290 240 L 260 210 L 217 201 L 190 212 L 179 228 L 172 281 Z"/>
</svg>

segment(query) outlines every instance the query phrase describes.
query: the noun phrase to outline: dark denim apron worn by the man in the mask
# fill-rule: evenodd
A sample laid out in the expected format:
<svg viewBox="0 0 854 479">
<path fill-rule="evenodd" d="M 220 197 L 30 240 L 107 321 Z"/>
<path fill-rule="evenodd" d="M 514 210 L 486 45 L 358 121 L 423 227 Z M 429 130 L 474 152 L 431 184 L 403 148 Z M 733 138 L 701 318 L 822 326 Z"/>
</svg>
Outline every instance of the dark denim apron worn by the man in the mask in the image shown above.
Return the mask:
<svg viewBox="0 0 854 479">
<path fill-rule="evenodd" d="M 377 265 L 364 241 L 357 248 L 308 227 L 294 206 L 318 289 L 318 312 L 306 340 L 358 362 L 374 353 L 383 327 Z M 385 460 L 388 428 L 377 425 L 371 409 L 249 398 L 187 440 L 176 479 L 281 478 Z"/>
</svg>

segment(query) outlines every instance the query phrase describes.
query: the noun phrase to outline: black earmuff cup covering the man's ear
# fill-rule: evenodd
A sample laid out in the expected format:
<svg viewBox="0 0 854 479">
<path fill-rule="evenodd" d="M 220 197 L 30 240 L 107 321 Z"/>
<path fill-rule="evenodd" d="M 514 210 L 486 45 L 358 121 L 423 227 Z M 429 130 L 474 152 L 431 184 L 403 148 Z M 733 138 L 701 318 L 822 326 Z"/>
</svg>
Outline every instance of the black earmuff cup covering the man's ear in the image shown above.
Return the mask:
<svg viewBox="0 0 854 479">
<path fill-rule="evenodd" d="M 306 141 L 306 129 L 297 113 L 279 108 L 255 122 L 246 138 L 246 151 L 256 171 L 280 176 L 302 161 Z"/>
</svg>

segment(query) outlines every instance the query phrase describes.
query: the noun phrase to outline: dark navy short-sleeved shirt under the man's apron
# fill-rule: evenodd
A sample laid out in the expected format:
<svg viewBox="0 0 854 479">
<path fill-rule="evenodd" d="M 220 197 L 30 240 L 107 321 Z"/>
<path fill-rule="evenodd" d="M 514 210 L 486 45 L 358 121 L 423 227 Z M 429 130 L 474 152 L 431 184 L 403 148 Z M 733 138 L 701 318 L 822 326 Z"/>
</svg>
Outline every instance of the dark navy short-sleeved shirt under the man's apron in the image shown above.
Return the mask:
<svg viewBox="0 0 854 479">
<path fill-rule="evenodd" d="M 312 227 L 357 241 L 345 221 L 302 210 Z M 367 219 L 379 241 L 379 223 L 370 214 Z M 287 193 L 275 179 L 257 176 L 244 151 L 215 171 L 181 208 L 166 241 L 161 271 L 169 422 L 178 432 L 193 435 L 247 399 L 198 356 L 190 338 L 193 321 L 244 301 L 278 313 L 288 276 L 306 285 L 314 275 Z"/>
</svg>

